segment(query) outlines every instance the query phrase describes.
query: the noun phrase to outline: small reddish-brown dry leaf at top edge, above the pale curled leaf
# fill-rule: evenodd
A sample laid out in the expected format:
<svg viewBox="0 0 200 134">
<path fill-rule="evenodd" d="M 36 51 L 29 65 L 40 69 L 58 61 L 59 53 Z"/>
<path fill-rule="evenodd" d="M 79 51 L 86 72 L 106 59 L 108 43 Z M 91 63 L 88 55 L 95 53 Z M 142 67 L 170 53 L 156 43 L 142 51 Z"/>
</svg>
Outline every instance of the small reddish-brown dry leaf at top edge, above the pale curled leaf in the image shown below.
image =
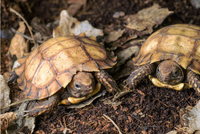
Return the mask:
<svg viewBox="0 0 200 134">
<path fill-rule="evenodd" d="M 75 15 L 82 6 L 85 8 L 86 2 L 87 0 L 68 0 L 68 3 L 71 4 L 67 9 L 69 15 Z"/>
</svg>

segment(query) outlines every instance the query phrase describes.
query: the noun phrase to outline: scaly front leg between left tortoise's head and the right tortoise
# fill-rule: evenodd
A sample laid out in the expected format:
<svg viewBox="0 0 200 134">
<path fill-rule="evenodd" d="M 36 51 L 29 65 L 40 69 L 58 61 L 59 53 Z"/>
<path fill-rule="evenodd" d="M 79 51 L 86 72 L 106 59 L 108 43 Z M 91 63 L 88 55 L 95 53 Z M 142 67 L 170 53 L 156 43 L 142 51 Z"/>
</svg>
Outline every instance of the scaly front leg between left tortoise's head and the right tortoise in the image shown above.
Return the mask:
<svg viewBox="0 0 200 134">
<path fill-rule="evenodd" d="M 106 71 L 100 70 L 100 72 L 95 73 L 95 77 L 109 92 L 120 90 L 116 81 Z"/>
</svg>

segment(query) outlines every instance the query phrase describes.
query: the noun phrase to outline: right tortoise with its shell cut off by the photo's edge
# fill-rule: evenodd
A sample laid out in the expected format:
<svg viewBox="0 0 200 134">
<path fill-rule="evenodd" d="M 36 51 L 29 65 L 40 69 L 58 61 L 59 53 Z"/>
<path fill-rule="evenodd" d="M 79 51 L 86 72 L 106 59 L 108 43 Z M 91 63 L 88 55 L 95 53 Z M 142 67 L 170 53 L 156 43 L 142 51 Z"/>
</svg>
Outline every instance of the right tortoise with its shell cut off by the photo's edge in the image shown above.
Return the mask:
<svg viewBox="0 0 200 134">
<path fill-rule="evenodd" d="M 193 87 L 200 95 L 200 27 L 176 24 L 156 31 L 133 62 L 138 69 L 127 78 L 128 88 L 136 88 L 149 76 L 157 87 L 175 90 Z"/>
</svg>

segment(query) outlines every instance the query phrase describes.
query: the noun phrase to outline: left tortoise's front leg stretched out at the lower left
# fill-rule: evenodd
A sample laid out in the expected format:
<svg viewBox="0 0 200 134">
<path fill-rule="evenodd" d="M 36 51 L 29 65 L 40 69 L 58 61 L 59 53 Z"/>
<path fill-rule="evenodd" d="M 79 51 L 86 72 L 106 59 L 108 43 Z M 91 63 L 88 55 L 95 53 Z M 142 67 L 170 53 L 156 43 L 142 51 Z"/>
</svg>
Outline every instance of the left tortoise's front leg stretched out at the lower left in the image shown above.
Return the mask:
<svg viewBox="0 0 200 134">
<path fill-rule="evenodd" d="M 27 113 L 26 116 L 35 117 L 41 115 L 42 113 L 51 110 L 59 101 L 60 98 L 58 94 L 54 94 L 45 100 L 30 101 L 28 110 L 25 111 Z"/>
</svg>

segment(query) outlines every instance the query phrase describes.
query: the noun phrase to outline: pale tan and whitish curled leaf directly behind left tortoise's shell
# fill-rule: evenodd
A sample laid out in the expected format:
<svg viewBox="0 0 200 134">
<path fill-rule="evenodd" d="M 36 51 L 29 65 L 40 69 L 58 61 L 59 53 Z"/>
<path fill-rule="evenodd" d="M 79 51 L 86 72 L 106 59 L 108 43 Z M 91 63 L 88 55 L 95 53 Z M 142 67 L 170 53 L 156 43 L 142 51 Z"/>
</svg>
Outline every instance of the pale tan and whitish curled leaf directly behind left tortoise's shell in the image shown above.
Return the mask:
<svg viewBox="0 0 200 134">
<path fill-rule="evenodd" d="M 94 28 L 87 20 L 80 22 L 70 16 L 66 10 L 61 11 L 59 26 L 53 30 L 53 37 L 80 33 L 85 33 L 87 37 L 103 36 L 103 30 Z"/>
</svg>

